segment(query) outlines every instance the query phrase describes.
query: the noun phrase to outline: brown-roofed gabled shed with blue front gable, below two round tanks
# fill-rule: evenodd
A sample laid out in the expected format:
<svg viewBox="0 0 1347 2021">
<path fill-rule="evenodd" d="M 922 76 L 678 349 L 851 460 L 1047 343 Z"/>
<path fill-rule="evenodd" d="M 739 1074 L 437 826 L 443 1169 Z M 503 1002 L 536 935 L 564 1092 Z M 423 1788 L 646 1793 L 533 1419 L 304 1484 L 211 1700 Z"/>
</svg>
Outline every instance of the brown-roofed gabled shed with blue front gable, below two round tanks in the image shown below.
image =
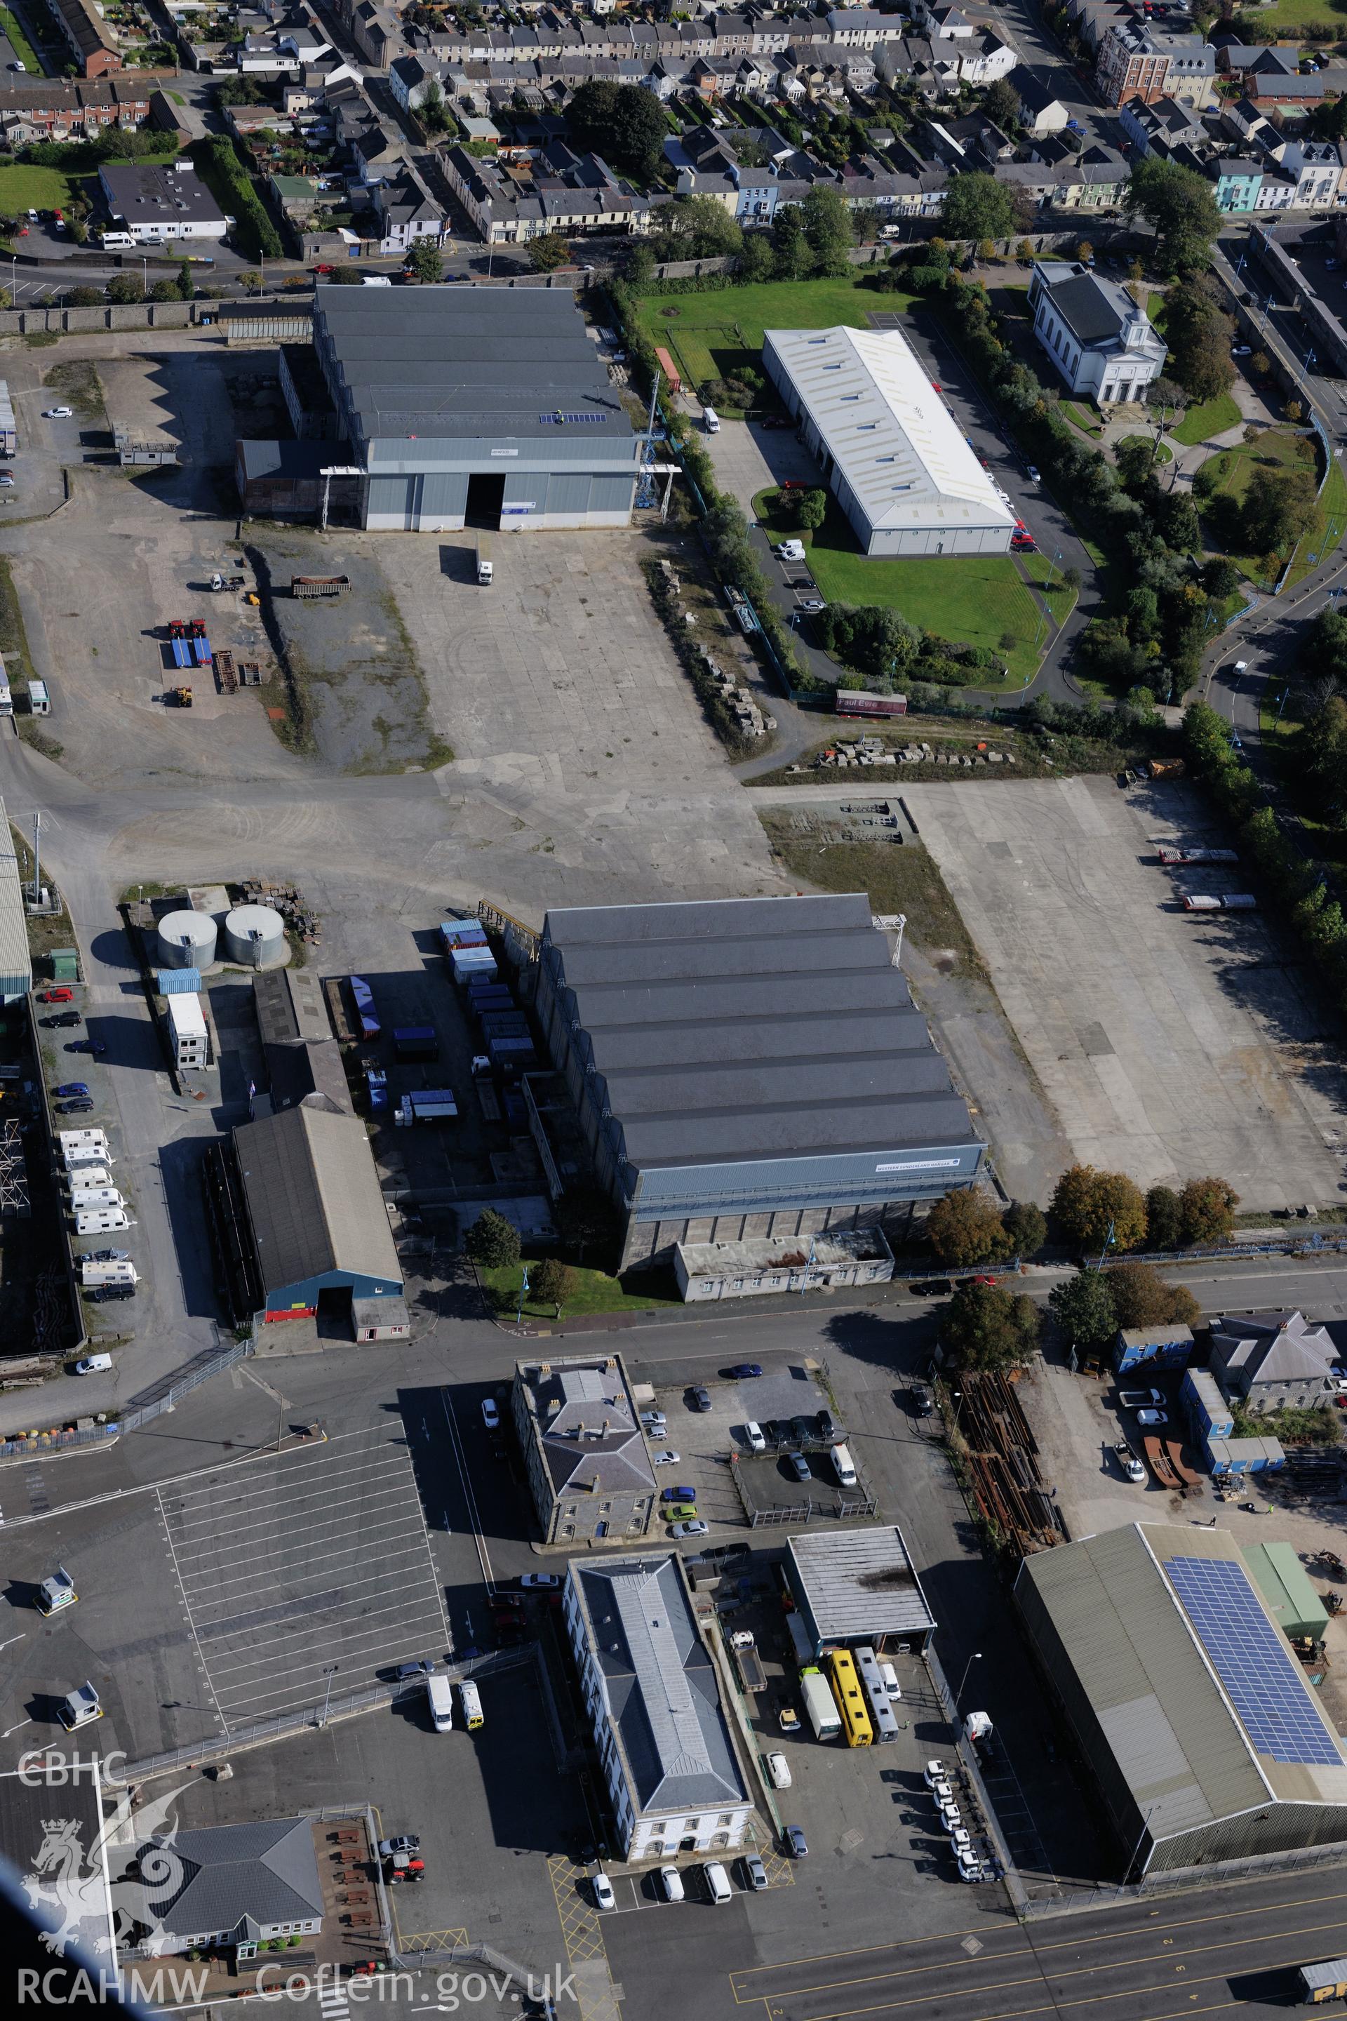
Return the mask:
<svg viewBox="0 0 1347 2021">
<path fill-rule="evenodd" d="M 325 1095 L 234 1130 L 267 1320 L 400 1300 L 402 1269 L 366 1126 Z"/>
</svg>

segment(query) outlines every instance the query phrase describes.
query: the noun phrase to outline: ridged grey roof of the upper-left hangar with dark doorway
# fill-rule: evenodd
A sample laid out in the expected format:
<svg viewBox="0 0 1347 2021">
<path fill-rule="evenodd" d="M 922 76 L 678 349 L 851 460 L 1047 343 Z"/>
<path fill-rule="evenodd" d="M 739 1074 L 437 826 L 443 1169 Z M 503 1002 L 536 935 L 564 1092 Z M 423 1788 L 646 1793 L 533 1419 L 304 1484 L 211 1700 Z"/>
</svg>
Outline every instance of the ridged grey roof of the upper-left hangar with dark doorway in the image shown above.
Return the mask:
<svg viewBox="0 0 1347 2021">
<path fill-rule="evenodd" d="M 323 285 L 315 335 L 366 441 L 634 441 L 569 289 Z"/>
</svg>

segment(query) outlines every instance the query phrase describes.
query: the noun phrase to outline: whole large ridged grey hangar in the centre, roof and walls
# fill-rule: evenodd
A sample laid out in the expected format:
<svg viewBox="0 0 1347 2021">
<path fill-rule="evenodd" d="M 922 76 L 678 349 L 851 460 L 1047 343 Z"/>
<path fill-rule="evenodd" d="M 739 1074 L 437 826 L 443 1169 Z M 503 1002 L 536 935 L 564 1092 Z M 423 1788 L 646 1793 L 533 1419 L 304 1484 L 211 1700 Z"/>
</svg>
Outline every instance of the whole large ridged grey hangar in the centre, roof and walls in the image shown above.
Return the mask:
<svg viewBox="0 0 1347 2021">
<path fill-rule="evenodd" d="M 622 1265 L 911 1219 L 986 1144 L 864 893 L 549 911 L 537 1015 Z"/>
</svg>

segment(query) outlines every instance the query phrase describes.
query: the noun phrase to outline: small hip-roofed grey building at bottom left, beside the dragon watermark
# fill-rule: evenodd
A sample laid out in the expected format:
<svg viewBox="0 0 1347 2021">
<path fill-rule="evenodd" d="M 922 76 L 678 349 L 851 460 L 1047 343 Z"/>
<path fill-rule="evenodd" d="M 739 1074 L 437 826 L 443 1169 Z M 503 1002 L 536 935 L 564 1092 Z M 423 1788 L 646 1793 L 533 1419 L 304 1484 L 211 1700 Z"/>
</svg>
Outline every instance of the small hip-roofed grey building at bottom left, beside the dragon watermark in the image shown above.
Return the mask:
<svg viewBox="0 0 1347 2021">
<path fill-rule="evenodd" d="M 137 1865 L 160 1851 L 158 1839 L 135 1849 Z M 141 1952 L 162 1956 L 202 1944 L 256 1954 L 275 1936 L 317 1936 L 323 1928 L 323 1886 L 307 1817 L 275 1817 L 244 1825 L 180 1831 L 172 1853 L 182 1884 L 168 1908 L 143 1882 L 153 1934 Z"/>
</svg>

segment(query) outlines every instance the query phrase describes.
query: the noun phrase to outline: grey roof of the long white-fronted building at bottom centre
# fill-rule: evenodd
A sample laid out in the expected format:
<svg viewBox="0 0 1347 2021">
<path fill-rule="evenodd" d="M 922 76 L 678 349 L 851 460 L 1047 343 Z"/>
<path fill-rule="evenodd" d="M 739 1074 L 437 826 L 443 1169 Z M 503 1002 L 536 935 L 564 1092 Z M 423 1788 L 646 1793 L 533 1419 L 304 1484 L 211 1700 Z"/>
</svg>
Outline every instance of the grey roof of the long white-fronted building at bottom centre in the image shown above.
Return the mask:
<svg viewBox="0 0 1347 2021">
<path fill-rule="evenodd" d="M 636 1815 L 745 1803 L 677 1558 L 572 1560 L 572 1576 Z"/>
</svg>

